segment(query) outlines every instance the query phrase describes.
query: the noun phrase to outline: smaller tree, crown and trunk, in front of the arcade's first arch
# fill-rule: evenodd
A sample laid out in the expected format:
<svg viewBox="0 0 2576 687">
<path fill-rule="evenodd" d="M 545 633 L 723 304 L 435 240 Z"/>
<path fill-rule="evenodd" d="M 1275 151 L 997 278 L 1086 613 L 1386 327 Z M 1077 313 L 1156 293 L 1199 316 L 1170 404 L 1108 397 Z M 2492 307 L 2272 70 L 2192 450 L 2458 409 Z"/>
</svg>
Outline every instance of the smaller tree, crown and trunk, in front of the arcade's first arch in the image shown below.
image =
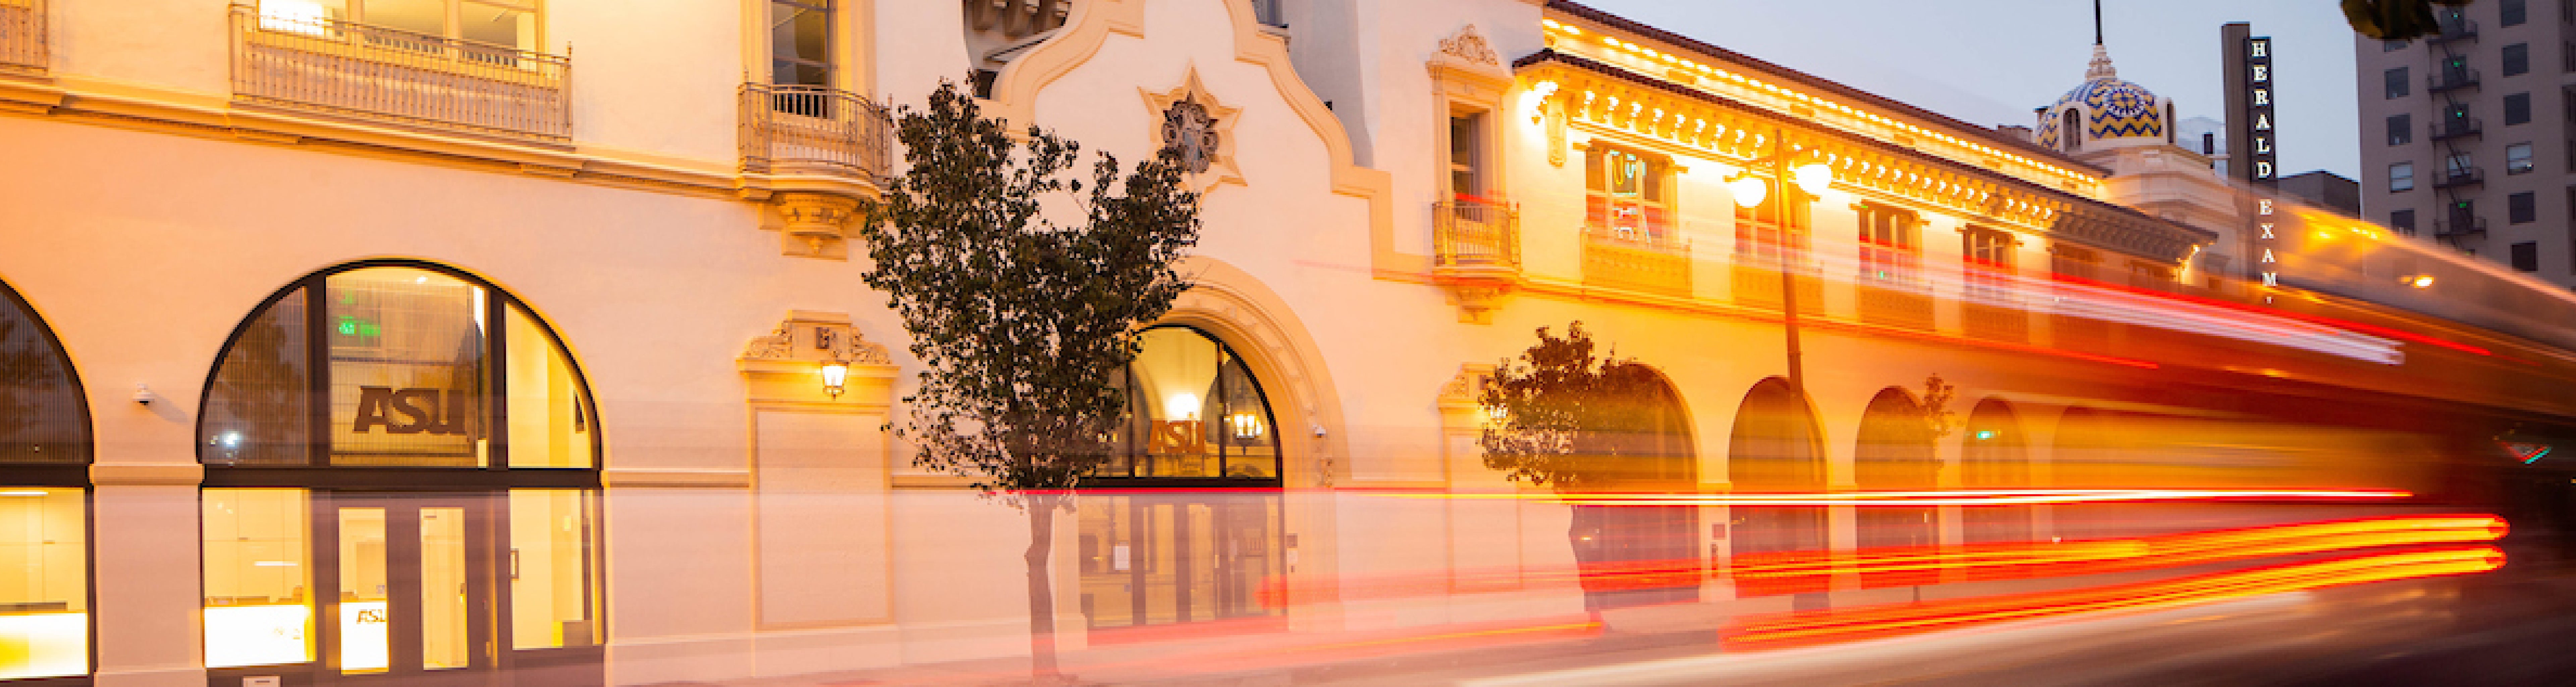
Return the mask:
<svg viewBox="0 0 2576 687">
<path fill-rule="evenodd" d="M 1566 337 L 1538 327 L 1538 345 L 1520 360 L 1494 365 L 1494 378 L 1479 399 L 1494 419 L 1479 445 L 1484 466 L 1512 481 L 1571 489 L 1623 489 L 1667 479 L 1669 458 L 1662 407 L 1667 386 L 1654 368 L 1613 355 L 1592 355 L 1592 334 L 1582 322 Z M 1623 507 L 1646 515 L 1643 507 Z M 1584 610 L 1600 620 L 1613 594 L 1680 587 L 1669 561 L 1625 561 L 1633 540 L 1607 540 L 1613 515 L 1605 507 L 1577 504 L 1566 527 L 1574 563 L 1582 571 Z M 1646 533 L 1654 527 L 1620 527 Z M 1618 582 L 1613 582 L 1613 576 Z M 1687 584 L 1698 584 L 1695 571 Z"/>
</svg>

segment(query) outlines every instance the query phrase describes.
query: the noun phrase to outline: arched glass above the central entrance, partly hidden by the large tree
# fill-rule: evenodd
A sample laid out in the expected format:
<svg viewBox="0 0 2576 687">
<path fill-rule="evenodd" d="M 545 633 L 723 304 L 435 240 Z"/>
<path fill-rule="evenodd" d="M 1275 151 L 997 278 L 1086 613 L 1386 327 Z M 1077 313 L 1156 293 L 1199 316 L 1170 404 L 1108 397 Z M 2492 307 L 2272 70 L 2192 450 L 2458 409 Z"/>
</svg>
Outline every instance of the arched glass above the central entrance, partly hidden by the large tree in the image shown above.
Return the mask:
<svg viewBox="0 0 2576 687">
<path fill-rule="evenodd" d="M 1278 432 L 1260 381 L 1231 347 L 1188 327 L 1141 334 L 1128 363 L 1128 419 L 1110 479 L 1257 479 L 1280 473 Z"/>
</svg>

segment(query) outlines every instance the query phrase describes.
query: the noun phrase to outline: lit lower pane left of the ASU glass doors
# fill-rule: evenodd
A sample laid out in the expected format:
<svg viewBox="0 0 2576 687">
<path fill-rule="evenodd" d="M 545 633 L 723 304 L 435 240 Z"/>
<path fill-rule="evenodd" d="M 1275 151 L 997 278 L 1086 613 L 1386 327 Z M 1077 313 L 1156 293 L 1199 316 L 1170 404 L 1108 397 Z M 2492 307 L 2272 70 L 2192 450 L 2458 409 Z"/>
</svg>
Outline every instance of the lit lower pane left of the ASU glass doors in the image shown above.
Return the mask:
<svg viewBox="0 0 2576 687">
<path fill-rule="evenodd" d="M 314 659 L 304 489 L 206 489 L 206 666 Z"/>
</svg>

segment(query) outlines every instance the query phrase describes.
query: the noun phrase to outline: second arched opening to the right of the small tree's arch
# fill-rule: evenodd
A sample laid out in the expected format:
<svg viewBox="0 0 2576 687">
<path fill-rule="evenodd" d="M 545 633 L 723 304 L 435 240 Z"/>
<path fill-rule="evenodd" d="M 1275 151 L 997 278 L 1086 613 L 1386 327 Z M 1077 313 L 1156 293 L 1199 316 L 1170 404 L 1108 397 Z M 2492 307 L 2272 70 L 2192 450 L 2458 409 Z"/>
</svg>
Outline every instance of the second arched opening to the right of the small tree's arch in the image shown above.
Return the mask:
<svg viewBox="0 0 2576 687">
<path fill-rule="evenodd" d="M 1932 458 L 1932 422 L 1904 389 L 1880 389 L 1860 414 L 1860 445 L 1852 455 L 1855 479 L 1868 491 L 1929 491 L 1940 463 Z M 1935 507 L 1860 507 L 1860 548 L 1937 545 Z M 1919 574 L 1873 576 L 1865 587 L 1932 584 Z"/>
</svg>

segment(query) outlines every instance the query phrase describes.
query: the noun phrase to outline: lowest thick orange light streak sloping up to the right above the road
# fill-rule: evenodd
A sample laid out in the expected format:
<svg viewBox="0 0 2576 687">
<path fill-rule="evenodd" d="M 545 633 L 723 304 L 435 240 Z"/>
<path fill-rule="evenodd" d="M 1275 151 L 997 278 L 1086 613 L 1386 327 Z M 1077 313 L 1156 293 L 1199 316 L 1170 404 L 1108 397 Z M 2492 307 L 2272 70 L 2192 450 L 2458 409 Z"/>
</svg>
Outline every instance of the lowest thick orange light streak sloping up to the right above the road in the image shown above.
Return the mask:
<svg viewBox="0 0 2576 687">
<path fill-rule="evenodd" d="M 2331 561 L 2282 563 L 2166 582 L 2112 584 L 1984 600 L 1875 605 L 1826 612 L 1754 615 L 1721 630 L 1731 648 L 1783 648 L 1829 641 L 1911 636 L 1968 625 L 2202 605 L 2236 597 L 2303 592 L 2365 582 L 2481 574 L 2504 566 L 2494 545 L 2370 553 Z"/>
</svg>

